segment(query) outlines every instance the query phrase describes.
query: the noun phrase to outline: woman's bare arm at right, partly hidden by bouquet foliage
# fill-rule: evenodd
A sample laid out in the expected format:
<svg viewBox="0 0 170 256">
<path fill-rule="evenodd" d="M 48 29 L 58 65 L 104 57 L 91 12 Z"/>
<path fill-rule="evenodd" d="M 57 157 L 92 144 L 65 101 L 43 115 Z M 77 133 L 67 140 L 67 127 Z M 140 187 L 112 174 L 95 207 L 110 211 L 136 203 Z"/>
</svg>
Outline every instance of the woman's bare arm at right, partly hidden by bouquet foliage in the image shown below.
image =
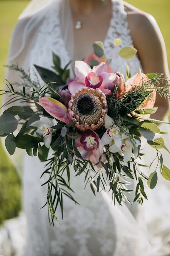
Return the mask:
<svg viewBox="0 0 170 256">
<path fill-rule="evenodd" d="M 133 43 L 138 50 L 143 72 L 162 73 L 169 77 L 166 47 L 156 20 L 129 4 L 126 4 L 126 8 Z M 163 120 L 169 110 L 169 100 L 157 94 L 155 106 L 158 111 L 151 117 Z"/>
</svg>

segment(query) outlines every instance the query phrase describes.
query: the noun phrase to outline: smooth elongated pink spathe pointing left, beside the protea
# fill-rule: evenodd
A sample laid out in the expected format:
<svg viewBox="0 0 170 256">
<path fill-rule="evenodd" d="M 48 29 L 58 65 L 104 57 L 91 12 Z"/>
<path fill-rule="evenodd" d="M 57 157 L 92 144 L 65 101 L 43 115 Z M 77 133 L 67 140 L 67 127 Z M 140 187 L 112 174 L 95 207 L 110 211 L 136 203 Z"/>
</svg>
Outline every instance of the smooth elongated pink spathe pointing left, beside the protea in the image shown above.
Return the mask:
<svg viewBox="0 0 170 256">
<path fill-rule="evenodd" d="M 63 111 L 58 105 L 56 105 L 51 100 L 47 99 L 46 97 L 42 97 L 39 99 L 40 105 L 45 109 L 47 113 L 49 113 L 54 118 L 58 119 L 61 122 L 69 123 L 72 122 L 69 113 Z"/>
</svg>

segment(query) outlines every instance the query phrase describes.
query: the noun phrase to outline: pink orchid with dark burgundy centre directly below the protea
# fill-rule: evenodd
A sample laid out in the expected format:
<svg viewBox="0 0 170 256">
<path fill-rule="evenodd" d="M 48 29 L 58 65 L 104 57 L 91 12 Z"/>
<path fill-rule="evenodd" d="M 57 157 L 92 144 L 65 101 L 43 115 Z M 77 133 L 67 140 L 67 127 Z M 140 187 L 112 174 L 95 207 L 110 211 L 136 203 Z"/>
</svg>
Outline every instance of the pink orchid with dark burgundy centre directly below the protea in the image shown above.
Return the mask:
<svg viewBox="0 0 170 256">
<path fill-rule="evenodd" d="M 90 160 L 93 164 L 98 163 L 99 157 L 103 154 L 103 143 L 98 134 L 92 130 L 85 131 L 82 135 L 78 134 L 75 146 L 83 159 Z M 105 161 L 105 155 L 102 156 L 102 161 Z M 102 168 L 102 165 L 98 164 L 97 167 Z"/>
</svg>

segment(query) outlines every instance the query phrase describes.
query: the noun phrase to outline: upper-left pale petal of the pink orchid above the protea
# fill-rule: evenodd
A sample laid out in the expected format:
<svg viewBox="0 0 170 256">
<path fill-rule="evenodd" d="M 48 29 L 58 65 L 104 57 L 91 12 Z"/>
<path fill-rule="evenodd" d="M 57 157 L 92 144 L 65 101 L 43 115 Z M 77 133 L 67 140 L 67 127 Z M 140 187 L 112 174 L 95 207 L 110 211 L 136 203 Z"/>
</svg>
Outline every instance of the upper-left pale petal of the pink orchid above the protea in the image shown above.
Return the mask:
<svg viewBox="0 0 170 256">
<path fill-rule="evenodd" d="M 84 82 L 85 77 L 91 72 L 91 67 L 84 61 L 75 61 L 74 72 L 80 81 Z"/>
</svg>

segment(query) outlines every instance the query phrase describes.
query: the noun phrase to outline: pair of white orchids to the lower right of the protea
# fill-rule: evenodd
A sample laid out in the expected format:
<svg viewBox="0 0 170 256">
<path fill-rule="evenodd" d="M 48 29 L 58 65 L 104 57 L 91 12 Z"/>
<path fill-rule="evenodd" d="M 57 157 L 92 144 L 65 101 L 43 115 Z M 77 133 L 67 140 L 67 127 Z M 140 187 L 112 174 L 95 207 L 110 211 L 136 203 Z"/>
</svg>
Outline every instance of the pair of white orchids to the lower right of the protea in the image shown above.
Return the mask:
<svg viewBox="0 0 170 256">
<path fill-rule="evenodd" d="M 121 133 L 119 128 L 114 125 L 113 119 L 105 114 L 105 128 L 106 132 L 102 136 L 103 145 L 109 145 L 108 150 L 112 153 L 124 154 L 124 162 L 127 163 L 132 154 L 135 157 L 138 155 L 138 146 L 141 144 L 139 140 L 130 139 L 127 134 L 128 130 L 124 133 Z"/>
</svg>

